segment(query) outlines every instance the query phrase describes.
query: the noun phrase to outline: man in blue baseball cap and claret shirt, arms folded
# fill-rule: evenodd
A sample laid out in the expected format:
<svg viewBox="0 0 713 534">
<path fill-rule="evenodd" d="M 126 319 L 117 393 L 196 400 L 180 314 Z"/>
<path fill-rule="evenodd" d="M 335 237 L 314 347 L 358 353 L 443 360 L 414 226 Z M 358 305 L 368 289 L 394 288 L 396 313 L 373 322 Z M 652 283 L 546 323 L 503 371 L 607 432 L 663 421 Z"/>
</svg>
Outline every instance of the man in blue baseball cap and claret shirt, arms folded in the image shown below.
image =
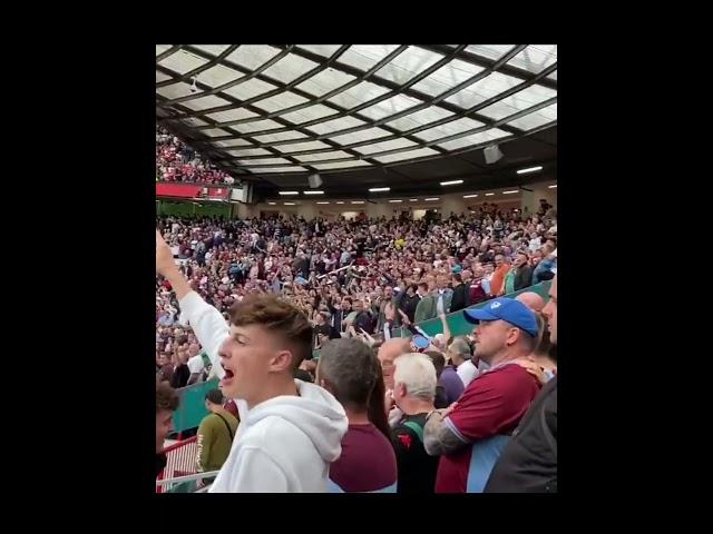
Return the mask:
<svg viewBox="0 0 713 534">
<path fill-rule="evenodd" d="M 449 408 L 429 414 L 424 427 L 428 454 L 441 455 L 437 493 L 480 493 L 500 452 L 540 388 L 518 360 L 537 342 L 537 319 L 522 303 L 496 298 L 465 309 L 477 324 L 476 356 L 488 370 L 473 379 Z"/>
</svg>

